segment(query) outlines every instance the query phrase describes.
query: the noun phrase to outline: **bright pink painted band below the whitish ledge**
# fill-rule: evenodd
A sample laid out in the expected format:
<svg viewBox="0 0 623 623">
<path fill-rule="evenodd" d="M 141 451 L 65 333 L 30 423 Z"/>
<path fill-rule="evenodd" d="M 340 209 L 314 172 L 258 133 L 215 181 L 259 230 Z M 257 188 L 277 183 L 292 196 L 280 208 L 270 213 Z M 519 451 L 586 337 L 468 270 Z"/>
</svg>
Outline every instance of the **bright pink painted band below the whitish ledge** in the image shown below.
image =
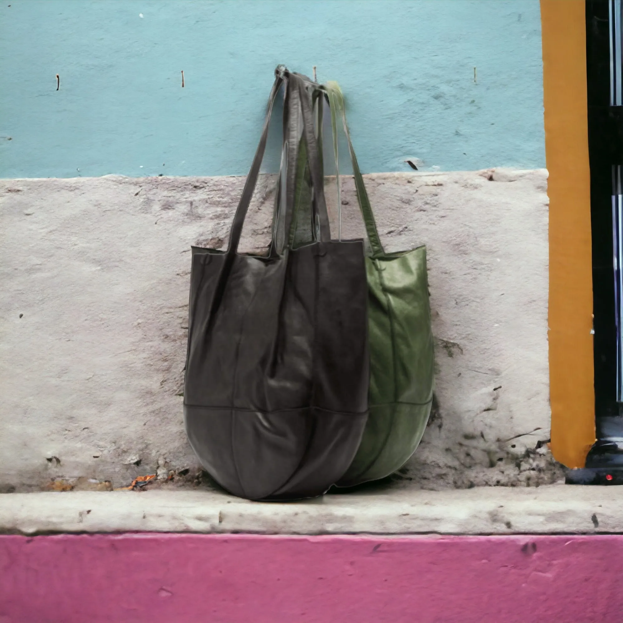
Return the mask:
<svg viewBox="0 0 623 623">
<path fill-rule="evenodd" d="M 0 623 L 616 623 L 623 536 L 0 536 Z"/>
</svg>

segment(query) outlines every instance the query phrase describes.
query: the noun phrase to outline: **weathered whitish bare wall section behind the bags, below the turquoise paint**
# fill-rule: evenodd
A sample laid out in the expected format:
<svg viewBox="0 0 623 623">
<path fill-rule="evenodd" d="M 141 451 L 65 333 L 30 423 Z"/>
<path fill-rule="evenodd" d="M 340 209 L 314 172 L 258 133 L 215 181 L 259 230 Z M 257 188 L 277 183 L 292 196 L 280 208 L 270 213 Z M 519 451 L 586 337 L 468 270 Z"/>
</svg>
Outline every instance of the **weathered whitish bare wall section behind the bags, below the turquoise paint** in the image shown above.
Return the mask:
<svg viewBox="0 0 623 623">
<path fill-rule="evenodd" d="M 437 405 L 396 478 L 426 488 L 556 480 L 541 447 L 549 437 L 546 171 L 366 179 L 388 249 L 425 242 L 429 254 Z M 189 247 L 226 245 L 242 181 L 2 181 L 4 490 L 53 477 L 119 486 L 158 464 L 198 467 L 178 395 Z M 356 235 L 345 182 L 344 231 Z M 270 176 L 260 186 L 247 250 L 269 232 Z"/>
</svg>

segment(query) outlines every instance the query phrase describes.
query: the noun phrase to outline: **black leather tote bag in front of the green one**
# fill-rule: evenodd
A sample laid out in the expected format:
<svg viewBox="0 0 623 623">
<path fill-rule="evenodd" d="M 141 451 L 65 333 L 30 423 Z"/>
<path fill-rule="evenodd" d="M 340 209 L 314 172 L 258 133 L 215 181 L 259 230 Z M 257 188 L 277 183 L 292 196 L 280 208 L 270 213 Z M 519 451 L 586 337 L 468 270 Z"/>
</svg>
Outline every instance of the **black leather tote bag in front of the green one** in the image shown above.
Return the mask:
<svg viewBox="0 0 623 623">
<path fill-rule="evenodd" d="M 287 173 L 307 164 L 313 214 L 326 215 L 313 83 L 284 68 L 276 74 L 229 246 L 192 249 L 184 384 L 184 424 L 194 452 L 222 487 L 253 500 L 324 493 L 353 460 L 368 413 L 363 241 L 331 240 L 321 216 L 312 242 L 292 248 L 297 212 L 293 204 L 280 205 L 295 201 L 297 176 L 282 171 L 287 188 L 275 202 L 269 255 L 237 252 L 284 83 Z M 298 142 L 292 140 L 297 124 Z M 280 249 L 283 221 L 288 235 Z"/>
</svg>

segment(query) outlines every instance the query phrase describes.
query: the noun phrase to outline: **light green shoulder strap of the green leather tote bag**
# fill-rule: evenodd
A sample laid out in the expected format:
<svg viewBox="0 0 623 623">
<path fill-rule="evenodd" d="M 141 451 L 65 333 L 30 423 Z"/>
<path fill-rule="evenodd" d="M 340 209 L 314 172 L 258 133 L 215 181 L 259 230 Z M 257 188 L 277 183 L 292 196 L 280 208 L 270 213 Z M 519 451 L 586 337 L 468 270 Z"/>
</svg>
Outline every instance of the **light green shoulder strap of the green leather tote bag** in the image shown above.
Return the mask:
<svg viewBox="0 0 623 623">
<path fill-rule="evenodd" d="M 348 123 L 346 123 L 346 110 L 344 105 L 344 96 L 342 95 L 340 85 L 337 82 L 327 82 L 321 87 L 328 99 L 329 106 L 331 108 L 331 130 L 333 130 L 333 153 L 335 154 L 335 169 L 336 180 L 338 187 L 338 219 L 340 221 L 340 239 L 341 239 L 341 191 L 340 191 L 340 164 L 338 161 L 338 133 L 337 133 L 337 115 L 340 113 L 342 118 L 342 125 L 344 126 L 344 133 L 346 140 L 348 140 L 348 149 L 350 151 L 351 162 L 353 163 L 354 184 L 357 190 L 357 201 L 359 202 L 359 209 L 361 210 L 361 216 L 363 216 L 363 222 L 366 226 L 366 234 L 368 235 L 368 241 L 372 250 L 372 257 L 381 257 L 385 254 L 383 250 L 383 244 L 379 238 L 379 232 L 376 229 L 376 222 L 374 221 L 374 214 L 372 206 L 370 205 L 370 199 L 368 192 L 366 191 L 366 185 L 363 183 L 363 176 L 359 170 L 359 164 L 357 162 L 357 156 L 354 153 L 353 142 L 350 138 L 350 132 L 348 131 Z"/>
</svg>

